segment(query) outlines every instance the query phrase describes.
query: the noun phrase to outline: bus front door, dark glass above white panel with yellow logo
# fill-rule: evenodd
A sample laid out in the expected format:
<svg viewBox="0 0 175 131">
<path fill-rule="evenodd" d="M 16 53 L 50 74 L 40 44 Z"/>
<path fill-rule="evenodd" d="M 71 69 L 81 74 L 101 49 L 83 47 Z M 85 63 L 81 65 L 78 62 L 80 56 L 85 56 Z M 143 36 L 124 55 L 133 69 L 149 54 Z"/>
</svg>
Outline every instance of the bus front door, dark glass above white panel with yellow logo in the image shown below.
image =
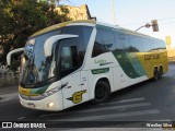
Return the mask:
<svg viewBox="0 0 175 131">
<path fill-rule="evenodd" d="M 83 94 L 80 81 L 81 71 L 78 71 L 77 46 L 67 40 L 62 41 L 60 55 L 63 108 L 81 103 Z"/>
</svg>

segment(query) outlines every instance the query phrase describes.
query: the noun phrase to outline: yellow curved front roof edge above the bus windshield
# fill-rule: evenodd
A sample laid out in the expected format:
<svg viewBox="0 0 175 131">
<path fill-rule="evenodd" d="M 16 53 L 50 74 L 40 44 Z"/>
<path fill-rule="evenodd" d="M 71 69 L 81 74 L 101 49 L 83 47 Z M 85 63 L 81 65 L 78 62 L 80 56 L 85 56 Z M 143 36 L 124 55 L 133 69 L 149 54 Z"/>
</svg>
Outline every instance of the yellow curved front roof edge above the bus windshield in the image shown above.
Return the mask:
<svg viewBox="0 0 175 131">
<path fill-rule="evenodd" d="M 79 21 L 63 22 L 63 23 L 59 23 L 59 24 L 46 27 L 46 28 L 44 28 L 42 31 L 38 31 L 35 34 L 33 34 L 31 37 L 35 37 L 35 36 L 51 32 L 54 29 L 57 29 L 59 27 L 63 27 L 63 26 L 71 25 L 71 24 L 74 24 L 74 23 L 78 23 L 78 24 L 80 24 L 80 23 L 96 24 L 96 21 L 94 21 L 94 20 L 79 20 Z"/>
</svg>

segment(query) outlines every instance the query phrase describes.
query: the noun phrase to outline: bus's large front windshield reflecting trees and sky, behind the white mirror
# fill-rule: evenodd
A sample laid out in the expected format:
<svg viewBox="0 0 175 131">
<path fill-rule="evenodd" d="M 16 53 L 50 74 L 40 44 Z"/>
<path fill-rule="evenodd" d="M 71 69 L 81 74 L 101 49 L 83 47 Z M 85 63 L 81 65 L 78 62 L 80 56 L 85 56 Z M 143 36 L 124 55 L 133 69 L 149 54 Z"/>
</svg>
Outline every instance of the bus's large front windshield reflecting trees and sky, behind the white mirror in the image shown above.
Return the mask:
<svg viewBox="0 0 175 131">
<path fill-rule="evenodd" d="M 37 84 L 55 76 L 55 56 L 51 53 L 51 56 L 45 57 L 44 44 L 50 36 L 60 33 L 61 31 L 56 31 L 28 39 L 21 58 L 21 83 Z"/>
</svg>

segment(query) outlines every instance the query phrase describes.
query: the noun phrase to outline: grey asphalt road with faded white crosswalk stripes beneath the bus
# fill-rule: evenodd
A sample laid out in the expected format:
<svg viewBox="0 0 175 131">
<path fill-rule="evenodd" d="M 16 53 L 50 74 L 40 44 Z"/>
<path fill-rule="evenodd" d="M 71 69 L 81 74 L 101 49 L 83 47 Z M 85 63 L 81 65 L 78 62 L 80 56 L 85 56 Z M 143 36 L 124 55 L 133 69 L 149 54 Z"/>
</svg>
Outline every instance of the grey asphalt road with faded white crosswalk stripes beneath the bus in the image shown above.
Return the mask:
<svg viewBox="0 0 175 131">
<path fill-rule="evenodd" d="M 175 121 L 175 64 L 170 64 L 168 73 L 156 82 L 147 81 L 113 93 L 109 103 L 85 103 L 59 112 L 22 107 L 18 88 L 13 88 L 9 99 L 0 93 L 0 121 L 48 121 L 48 126 L 63 128 L 145 127 L 143 122 Z"/>
</svg>

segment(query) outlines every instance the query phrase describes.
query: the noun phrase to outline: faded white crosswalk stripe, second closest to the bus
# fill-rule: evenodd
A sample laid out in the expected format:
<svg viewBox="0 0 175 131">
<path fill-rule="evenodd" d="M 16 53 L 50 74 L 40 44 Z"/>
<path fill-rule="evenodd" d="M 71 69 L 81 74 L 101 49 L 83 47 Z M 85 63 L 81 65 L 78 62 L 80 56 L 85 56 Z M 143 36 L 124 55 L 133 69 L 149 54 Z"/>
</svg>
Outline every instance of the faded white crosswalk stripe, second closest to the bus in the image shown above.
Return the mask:
<svg viewBox="0 0 175 131">
<path fill-rule="evenodd" d="M 130 104 L 130 105 L 120 105 L 120 106 L 112 106 L 112 107 L 100 107 L 100 108 L 93 108 L 93 109 L 83 109 L 83 110 L 77 110 L 77 111 L 70 111 L 70 112 L 62 112 L 59 115 L 70 115 L 74 112 L 93 112 L 93 111 L 104 111 L 104 110 L 113 110 L 113 109 L 127 109 L 127 108 L 135 108 L 135 107 L 143 107 L 143 106 L 150 106 L 150 103 L 141 103 L 141 104 Z M 39 117 L 51 117 L 58 114 L 51 114 L 51 115 L 42 115 Z"/>
</svg>

